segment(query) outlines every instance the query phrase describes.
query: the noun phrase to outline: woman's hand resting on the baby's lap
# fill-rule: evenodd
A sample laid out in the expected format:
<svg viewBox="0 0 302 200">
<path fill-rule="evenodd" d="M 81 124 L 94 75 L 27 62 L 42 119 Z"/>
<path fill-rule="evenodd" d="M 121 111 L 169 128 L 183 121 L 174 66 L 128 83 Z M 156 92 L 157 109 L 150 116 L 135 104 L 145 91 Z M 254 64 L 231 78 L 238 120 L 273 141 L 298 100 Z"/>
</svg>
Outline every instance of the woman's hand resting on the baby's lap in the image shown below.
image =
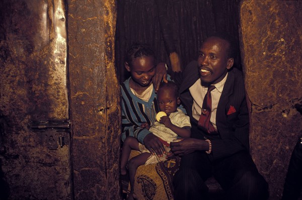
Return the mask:
<svg viewBox="0 0 302 200">
<path fill-rule="evenodd" d="M 163 143 L 153 133 L 146 135 L 143 139 L 143 143 L 153 155 L 157 154 L 159 157 L 163 157 L 163 154 L 166 153 Z"/>
</svg>

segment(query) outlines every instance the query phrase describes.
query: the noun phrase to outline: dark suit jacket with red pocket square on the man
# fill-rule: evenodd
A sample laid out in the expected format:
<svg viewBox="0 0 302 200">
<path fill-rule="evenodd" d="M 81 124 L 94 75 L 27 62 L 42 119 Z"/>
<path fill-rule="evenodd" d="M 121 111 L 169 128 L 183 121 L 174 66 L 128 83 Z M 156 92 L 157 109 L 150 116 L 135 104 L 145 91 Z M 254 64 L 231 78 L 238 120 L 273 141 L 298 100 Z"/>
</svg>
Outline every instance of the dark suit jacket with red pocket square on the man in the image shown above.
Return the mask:
<svg viewBox="0 0 302 200">
<path fill-rule="evenodd" d="M 193 98 L 189 87 L 199 76 L 197 61 L 190 62 L 182 72 L 174 72 L 173 80 L 178 84 L 180 99 L 191 119 L 192 126 L 197 126 L 197 121 L 192 117 Z M 229 112 L 231 107 L 236 112 Z M 231 110 L 234 111 L 233 108 Z M 232 113 L 232 114 L 230 114 Z M 216 113 L 216 126 L 218 137 L 212 138 L 211 159 L 218 159 L 232 155 L 236 152 L 249 151 L 249 115 L 246 102 L 246 93 L 242 72 L 236 68 L 229 71 L 225 81 Z M 192 133 L 194 138 L 211 138 L 209 134 L 192 129 L 198 133 Z M 198 137 L 200 134 L 201 137 Z"/>
</svg>

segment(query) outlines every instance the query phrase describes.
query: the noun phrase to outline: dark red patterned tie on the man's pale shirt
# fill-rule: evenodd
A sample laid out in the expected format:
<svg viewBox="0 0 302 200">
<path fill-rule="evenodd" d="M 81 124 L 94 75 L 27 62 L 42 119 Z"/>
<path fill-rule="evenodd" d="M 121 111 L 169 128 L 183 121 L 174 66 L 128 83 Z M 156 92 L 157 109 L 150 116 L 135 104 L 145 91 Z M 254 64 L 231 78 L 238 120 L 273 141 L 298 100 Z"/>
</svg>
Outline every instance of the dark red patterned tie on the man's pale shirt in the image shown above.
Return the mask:
<svg viewBox="0 0 302 200">
<path fill-rule="evenodd" d="M 211 118 L 211 111 L 212 111 L 212 98 L 211 98 L 211 91 L 215 89 L 214 85 L 209 85 L 208 90 L 204 96 L 201 115 L 198 120 L 198 125 L 205 129 L 206 132 L 212 133 L 216 132 L 214 126 L 210 122 Z"/>
</svg>

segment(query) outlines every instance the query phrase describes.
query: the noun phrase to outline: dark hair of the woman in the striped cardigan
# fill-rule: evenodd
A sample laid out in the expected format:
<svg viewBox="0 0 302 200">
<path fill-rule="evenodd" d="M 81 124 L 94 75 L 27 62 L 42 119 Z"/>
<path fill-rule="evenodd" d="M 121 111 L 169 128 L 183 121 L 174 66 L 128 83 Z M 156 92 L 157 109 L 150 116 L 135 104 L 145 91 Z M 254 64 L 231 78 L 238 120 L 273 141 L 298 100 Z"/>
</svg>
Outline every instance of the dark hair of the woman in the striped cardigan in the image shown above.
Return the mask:
<svg viewBox="0 0 302 200">
<path fill-rule="evenodd" d="M 125 62 L 131 66 L 133 59 L 143 56 L 153 56 L 156 59 L 153 50 L 147 44 L 133 43 L 126 52 Z"/>
</svg>

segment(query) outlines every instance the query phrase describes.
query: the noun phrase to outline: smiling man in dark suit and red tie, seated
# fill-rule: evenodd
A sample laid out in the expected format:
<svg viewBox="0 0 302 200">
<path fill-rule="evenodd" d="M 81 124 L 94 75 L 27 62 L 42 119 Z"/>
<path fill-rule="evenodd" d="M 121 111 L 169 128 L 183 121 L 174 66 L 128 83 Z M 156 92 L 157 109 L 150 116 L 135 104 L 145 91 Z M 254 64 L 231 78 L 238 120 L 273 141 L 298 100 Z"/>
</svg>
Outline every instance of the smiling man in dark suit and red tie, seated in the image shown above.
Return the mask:
<svg viewBox="0 0 302 200">
<path fill-rule="evenodd" d="M 174 176 L 175 199 L 206 198 L 204 181 L 212 175 L 227 199 L 268 198 L 268 184 L 249 153 L 246 92 L 242 72 L 232 68 L 233 44 L 226 35 L 211 36 L 203 42 L 197 62 L 172 74 L 192 124 L 191 138 L 170 144 L 173 154 L 181 156 Z"/>
</svg>

